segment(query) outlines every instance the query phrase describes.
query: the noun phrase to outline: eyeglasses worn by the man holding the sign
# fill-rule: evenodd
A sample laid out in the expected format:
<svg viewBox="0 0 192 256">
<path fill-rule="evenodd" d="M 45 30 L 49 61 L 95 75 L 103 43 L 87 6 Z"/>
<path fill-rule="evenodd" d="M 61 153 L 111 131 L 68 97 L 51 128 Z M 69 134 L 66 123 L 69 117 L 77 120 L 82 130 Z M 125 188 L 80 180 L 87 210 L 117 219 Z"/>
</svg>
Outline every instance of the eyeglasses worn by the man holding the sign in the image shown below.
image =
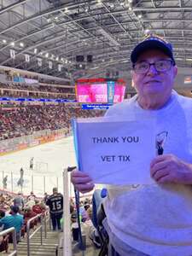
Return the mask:
<svg viewBox="0 0 192 256">
<path fill-rule="evenodd" d="M 174 62 L 172 60 L 159 60 L 154 61 L 154 63 L 149 63 L 148 61 L 139 61 L 133 64 L 133 69 L 135 73 L 148 73 L 148 70 L 151 67 L 151 65 L 154 66 L 157 72 L 166 72 L 171 69 L 172 65 L 174 65 Z"/>
</svg>

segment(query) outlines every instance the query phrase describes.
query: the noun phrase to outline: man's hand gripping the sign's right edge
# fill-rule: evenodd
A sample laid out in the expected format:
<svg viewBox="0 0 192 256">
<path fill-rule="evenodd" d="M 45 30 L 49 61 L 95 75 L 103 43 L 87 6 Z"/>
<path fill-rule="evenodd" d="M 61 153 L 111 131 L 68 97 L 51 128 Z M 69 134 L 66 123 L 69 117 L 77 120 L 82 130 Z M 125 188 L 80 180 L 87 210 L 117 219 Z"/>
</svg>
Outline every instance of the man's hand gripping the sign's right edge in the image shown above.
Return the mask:
<svg viewBox="0 0 192 256">
<path fill-rule="evenodd" d="M 150 164 L 150 173 L 157 183 L 192 184 L 192 165 L 173 154 L 155 157 Z"/>
</svg>

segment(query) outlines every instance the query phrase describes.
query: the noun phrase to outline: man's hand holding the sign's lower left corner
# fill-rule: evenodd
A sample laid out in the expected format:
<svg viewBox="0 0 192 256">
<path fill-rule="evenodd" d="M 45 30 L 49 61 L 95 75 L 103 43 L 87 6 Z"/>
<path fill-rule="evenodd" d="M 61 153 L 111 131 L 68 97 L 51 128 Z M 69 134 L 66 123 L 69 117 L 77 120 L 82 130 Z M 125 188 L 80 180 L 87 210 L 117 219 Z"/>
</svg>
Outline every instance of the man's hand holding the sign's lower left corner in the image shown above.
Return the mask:
<svg viewBox="0 0 192 256">
<path fill-rule="evenodd" d="M 78 189 L 81 193 L 90 192 L 95 186 L 88 174 L 80 172 L 77 169 L 71 172 L 71 182 L 75 189 Z"/>
</svg>

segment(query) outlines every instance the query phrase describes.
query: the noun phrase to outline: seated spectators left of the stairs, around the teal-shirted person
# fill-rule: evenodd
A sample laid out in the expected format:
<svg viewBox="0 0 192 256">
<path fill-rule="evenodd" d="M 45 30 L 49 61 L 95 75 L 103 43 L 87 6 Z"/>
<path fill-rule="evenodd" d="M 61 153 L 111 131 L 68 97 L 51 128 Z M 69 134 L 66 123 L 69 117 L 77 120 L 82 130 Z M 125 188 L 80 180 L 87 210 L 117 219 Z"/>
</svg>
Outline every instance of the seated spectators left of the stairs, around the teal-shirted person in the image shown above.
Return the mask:
<svg viewBox="0 0 192 256">
<path fill-rule="evenodd" d="M 18 195 L 1 194 L 0 195 L 0 231 L 15 227 L 16 241 L 26 236 L 26 224 L 30 218 L 46 212 L 45 201 L 38 200 L 36 195 L 31 192 L 24 197 L 21 192 Z M 35 229 L 39 223 L 36 218 L 30 224 L 30 229 Z M 8 251 L 8 243 L 13 241 L 11 233 L 7 236 L 0 236 L 0 252 Z"/>
</svg>

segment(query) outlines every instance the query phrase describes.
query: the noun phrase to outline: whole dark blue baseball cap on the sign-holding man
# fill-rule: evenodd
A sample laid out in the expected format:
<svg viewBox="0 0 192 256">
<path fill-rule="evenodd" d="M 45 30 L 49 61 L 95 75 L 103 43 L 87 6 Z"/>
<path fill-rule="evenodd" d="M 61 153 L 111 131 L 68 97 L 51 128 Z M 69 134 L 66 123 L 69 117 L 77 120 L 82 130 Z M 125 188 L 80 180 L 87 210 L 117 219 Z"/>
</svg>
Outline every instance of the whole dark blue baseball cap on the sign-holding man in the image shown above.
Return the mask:
<svg viewBox="0 0 192 256">
<path fill-rule="evenodd" d="M 131 52 L 131 62 L 136 63 L 139 55 L 143 54 L 143 52 L 148 49 L 159 49 L 165 55 L 169 56 L 173 61 L 173 65 L 175 65 L 172 44 L 166 42 L 166 40 L 156 35 L 149 35 L 142 42 L 137 44 L 137 46 Z"/>
</svg>

